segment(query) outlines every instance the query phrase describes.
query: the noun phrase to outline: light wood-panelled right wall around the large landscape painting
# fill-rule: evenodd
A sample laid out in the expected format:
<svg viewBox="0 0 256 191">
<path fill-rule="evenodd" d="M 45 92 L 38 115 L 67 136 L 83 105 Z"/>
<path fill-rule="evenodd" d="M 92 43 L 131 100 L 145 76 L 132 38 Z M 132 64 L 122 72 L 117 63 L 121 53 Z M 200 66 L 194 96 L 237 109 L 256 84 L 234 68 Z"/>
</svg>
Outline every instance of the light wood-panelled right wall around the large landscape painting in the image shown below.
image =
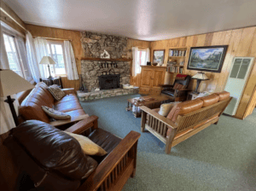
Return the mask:
<svg viewBox="0 0 256 191">
<path fill-rule="evenodd" d="M 194 35 L 183 38 L 172 38 L 168 40 L 155 41 L 151 43 L 151 61 L 153 60 L 154 49 L 166 49 L 165 65 L 168 59 L 168 50 L 170 47 L 195 47 L 195 46 L 212 46 L 212 45 L 229 45 L 227 54 L 224 59 L 224 66 L 220 73 L 206 72 L 210 80 L 201 83 L 200 91 L 218 92 L 224 90 L 225 84 L 229 77 L 230 67 L 233 58 L 236 56 L 256 57 L 256 27 L 247 27 L 224 32 L 212 32 L 201 35 Z M 189 52 L 188 52 L 189 53 Z M 187 54 L 189 56 L 189 54 Z M 188 59 L 187 59 L 188 61 Z M 197 71 L 187 70 L 187 61 L 184 67 L 184 73 L 191 76 Z M 189 85 L 191 90 L 195 90 L 196 80 L 192 80 Z M 256 60 L 254 60 L 253 69 L 247 81 L 247 86 L 241 97 L 240 105 L 236 112 L 236 118 L 244 119 L 249 113 L 245 113 L 253 96 L 253 89 L 256 84 Z"/>
</svg>

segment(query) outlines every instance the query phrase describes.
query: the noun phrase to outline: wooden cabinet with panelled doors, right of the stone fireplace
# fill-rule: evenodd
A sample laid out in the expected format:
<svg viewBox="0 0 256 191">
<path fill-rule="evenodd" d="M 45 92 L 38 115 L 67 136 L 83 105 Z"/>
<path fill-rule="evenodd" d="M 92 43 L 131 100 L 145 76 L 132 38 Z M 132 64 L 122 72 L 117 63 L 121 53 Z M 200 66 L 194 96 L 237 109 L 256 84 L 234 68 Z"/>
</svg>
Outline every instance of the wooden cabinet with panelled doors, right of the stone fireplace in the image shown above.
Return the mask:
<svg viewBox="0 0 256 191">
<path fill-rule="evenodd" d="M 142 66 L 140 94 L 160 95 L 166 67 Z"/>
</svg>

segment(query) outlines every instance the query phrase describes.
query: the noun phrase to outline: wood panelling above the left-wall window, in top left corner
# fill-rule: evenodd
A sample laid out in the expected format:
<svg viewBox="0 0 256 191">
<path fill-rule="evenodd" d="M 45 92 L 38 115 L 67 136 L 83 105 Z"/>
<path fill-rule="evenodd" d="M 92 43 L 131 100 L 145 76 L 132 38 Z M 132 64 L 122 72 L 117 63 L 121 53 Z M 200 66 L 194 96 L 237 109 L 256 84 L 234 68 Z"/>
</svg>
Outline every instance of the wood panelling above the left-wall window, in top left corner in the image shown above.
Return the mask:
<svg viewBox="0 0 256 191">
<path fill-rule="evenodd" d="M 20 20 L 20 17 L 17 14 L 15 14 L 15 11 L 9 8 L 8 4 L 4 3 L 3 0 L 0 0 L 0 5 L 4 11 L 6 11 L 11 17 L 13 17 L 21 26 L 26 28 L 23 20 Z M 17 23 L 15 23 L 14 20 L 10 19 L 7 14 L 3 13 L 3 11 L 0 11 L 0 15 L 1 15 L 0 18 L 4 23 L 13 27 L 18 32 L 24 35 L 26 34 L 26 31 L 23 28 L 21 28 Z"/>
</svg>

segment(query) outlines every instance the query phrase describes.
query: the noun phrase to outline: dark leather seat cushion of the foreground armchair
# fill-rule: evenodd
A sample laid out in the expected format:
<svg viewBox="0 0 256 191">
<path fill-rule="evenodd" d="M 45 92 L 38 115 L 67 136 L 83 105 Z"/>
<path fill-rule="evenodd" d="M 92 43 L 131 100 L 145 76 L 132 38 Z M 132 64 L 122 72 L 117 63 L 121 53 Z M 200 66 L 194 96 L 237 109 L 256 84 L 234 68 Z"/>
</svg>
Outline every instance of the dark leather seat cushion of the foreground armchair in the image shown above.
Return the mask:
<svg viewBox="0 0 256 191">
<path fill-rule="evenodd" d="M 118 146 L 119 142 L 122 141 L 122 139 L 118 136 L 114 136 L 112 133 L 102 130 L 101 128 L 97 128 L 96 130 L 92 131 L 88 137 L 92 142 L 95 142 L 108 153 L 111 153 L 113 148 Z M 108 156 L 108 154 L 106 156 Z M 102 160 L 106 158 L 106 156 L 91 156 L 91 158 L 96 159 L 96 161 L 100 164 Z"/>
</svg>

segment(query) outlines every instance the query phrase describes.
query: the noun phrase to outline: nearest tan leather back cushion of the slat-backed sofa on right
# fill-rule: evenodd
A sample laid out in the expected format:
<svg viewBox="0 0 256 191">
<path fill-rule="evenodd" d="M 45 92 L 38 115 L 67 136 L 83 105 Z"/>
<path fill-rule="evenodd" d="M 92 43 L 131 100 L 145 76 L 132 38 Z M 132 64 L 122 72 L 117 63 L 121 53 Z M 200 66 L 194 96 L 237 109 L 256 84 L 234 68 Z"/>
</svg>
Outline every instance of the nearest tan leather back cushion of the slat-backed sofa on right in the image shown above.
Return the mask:
<svg viewBox="0 0 256 191">
<path fill-rule="evenodd" d="M 191 113 L 198 109 L 201 109 L 204 101 L 201 99 L 196 99 L 192 101 L 183 101 L 177 104 L 175 107 L 172 107 L 172 110 L 167 115 L 167 119 L 171 119 L 173 122 L 176 122 L 177 116 L 181 114 Z"/>
</svg>

